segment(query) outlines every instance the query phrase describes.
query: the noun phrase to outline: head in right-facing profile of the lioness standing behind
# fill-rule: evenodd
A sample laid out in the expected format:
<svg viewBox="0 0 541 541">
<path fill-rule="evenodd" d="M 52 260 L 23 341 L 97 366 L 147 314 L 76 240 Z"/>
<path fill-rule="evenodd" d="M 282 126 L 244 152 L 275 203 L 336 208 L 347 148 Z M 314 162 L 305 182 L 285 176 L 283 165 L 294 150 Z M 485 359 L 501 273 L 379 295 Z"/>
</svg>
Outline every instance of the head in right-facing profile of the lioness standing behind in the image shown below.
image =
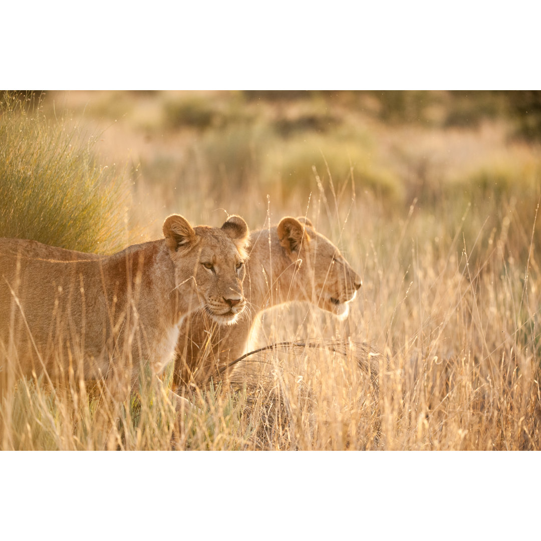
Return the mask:
<svg viewBox="0 0 541 541">
<path fill-rule="evenodd" d="M 295 279 L 305 300 L 345 318 L 362 280 L 340 250 L 304 217 L 282 218 L 277 232 L 281 246 L 296 265 Z"/>
</svg>

